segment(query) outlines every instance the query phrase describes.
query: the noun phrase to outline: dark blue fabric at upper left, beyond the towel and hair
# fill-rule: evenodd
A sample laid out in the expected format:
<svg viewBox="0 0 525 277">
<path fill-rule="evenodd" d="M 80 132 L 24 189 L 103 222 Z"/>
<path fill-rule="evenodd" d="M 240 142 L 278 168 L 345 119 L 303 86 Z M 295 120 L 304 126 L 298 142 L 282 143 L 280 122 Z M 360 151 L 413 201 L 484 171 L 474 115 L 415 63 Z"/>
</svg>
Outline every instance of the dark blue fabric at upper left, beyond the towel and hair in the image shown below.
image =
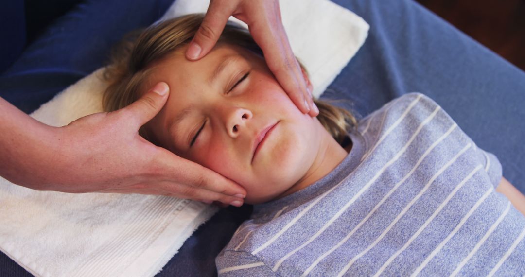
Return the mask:
<svg viewBox="0 0 525 277">
<path fill-rule="evenodd" d="M 131 30 L 159 19 L 172 0 L 84 1 L 58 18 L 0 77 L 0 97 L 30 113 L 101 67 Z M 3 25 L 10 28 L 10 25 Z"/>
</svg>

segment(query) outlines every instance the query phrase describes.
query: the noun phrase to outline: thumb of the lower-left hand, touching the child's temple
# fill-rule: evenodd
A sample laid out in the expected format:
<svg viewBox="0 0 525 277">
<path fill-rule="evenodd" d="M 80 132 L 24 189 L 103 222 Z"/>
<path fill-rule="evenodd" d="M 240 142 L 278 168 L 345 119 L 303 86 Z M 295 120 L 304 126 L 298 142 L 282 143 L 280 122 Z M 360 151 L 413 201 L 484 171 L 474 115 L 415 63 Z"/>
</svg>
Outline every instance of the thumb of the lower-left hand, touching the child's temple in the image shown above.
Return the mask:
<svg viewBox="0 0 525 277">
<path fill-rule="evenodd" d="M 160 82 L 142 95 L 139 100 L 131 103 L 124 109 L 130 111 L 139 126 L 142 126 L 160 112 L 166 103 L 169 91 L 170 87 L 167 83 Z"/>
</svg>

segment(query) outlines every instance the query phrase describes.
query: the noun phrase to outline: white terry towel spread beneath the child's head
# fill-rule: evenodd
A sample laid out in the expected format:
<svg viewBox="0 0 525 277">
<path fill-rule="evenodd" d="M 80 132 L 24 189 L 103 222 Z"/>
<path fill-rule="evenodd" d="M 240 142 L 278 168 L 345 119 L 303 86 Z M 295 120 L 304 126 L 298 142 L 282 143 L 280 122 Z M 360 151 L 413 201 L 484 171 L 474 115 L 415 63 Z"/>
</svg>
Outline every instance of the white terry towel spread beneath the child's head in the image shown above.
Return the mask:
<svg viewBox="0 0 525 277">
<path fill-rule="evenodd" d="M 206 0 L 175 1 L 163 18 L 205 12 Z M 363 44 L 369 26 L 328 0 L 282 0 L 293 50 L 318 97 Z M 101 111 L 102 69 L 31 114 L 53 126 Z M 37 276 L 150 276 L 216 212 L 161 196 L 35 191 L 0 178 L 0 250 Z"/>
</svg>

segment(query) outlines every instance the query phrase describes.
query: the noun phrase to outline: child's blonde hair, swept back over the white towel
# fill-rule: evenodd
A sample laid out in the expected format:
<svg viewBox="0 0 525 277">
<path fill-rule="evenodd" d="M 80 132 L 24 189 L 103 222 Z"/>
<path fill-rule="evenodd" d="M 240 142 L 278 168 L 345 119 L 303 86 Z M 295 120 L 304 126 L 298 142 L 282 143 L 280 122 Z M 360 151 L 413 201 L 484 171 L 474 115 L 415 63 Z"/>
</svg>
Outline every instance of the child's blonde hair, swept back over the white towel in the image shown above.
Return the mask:
<svg viewBox="0 0 525 277">
<path fill-rule="evenodd" d="M 102 106 L 105 111 L 114 111 L 133 103 L 141 97 L 140 86 L 148 76 L 149 66 L 182 46 L 187 45 L 201 26 L 204 15 L 191 14 L 166 20 L 144 30 L 128 35 L 114 48 L 110 64 L 104 71 L 109 87 L 104 91 Z M 262 50 L 246 29 L 228 23 L 218 42 L 237 45 L 262 56 Z M 301 65 L 301 67 L 303 67 Z M 304 67 L 303 67 L 304 69 Z M 306 69 L 305 69 L 306 72 Z M 317 118 L 338 143 L 346 133 L 356 127 L 357 121 L 351 112 L 314 100 L 319 108 Z M 151 140 L 143 127 L 139 134 Z"/>
</svg>

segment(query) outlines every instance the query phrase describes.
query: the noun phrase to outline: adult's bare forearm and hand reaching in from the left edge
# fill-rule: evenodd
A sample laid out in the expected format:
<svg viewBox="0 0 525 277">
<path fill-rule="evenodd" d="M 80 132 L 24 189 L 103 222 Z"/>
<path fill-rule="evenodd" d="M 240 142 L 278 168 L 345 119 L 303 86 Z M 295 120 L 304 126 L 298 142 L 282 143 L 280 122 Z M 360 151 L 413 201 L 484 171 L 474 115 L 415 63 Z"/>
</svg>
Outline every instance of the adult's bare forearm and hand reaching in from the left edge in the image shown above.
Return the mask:
<svg viewBox="0 0 525 277">
<path fill-rule="evenodd" d="M 244 188 L 138 134 L 168 92 L 159 83 L 124 109 L 63 127 L 43 124 L 0 98 L 0 175 L 36 190 L 154 194 L 239 206 Z"/>
</svg>

